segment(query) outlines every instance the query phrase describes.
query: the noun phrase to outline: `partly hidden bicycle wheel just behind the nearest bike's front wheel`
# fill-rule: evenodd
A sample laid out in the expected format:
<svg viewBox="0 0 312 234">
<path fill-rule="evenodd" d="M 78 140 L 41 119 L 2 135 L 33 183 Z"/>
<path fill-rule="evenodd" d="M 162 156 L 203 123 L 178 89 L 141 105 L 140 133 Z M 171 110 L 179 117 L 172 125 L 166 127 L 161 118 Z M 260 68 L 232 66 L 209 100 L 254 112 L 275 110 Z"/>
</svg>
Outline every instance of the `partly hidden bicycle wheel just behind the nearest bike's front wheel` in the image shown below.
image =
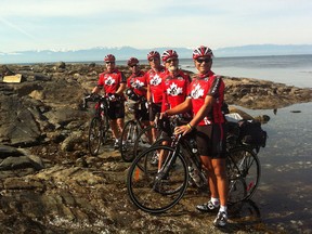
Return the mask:
<svg viewBox="0 0 312 234">
<path fill-rule="evenodd" d="M 139 132 L 138 139 L 135 140 L 134 145 L 133 145 L 133 153 L 132 153 L 133 159 L 139 154 L 141 154 L 142 152 L 151 147 L 152 140 L 150 140 L 151 138 L 148 135 L 152 133 L 153 128 L 155 128 L 155 126 L 147 126 Z"/>
</svg>

